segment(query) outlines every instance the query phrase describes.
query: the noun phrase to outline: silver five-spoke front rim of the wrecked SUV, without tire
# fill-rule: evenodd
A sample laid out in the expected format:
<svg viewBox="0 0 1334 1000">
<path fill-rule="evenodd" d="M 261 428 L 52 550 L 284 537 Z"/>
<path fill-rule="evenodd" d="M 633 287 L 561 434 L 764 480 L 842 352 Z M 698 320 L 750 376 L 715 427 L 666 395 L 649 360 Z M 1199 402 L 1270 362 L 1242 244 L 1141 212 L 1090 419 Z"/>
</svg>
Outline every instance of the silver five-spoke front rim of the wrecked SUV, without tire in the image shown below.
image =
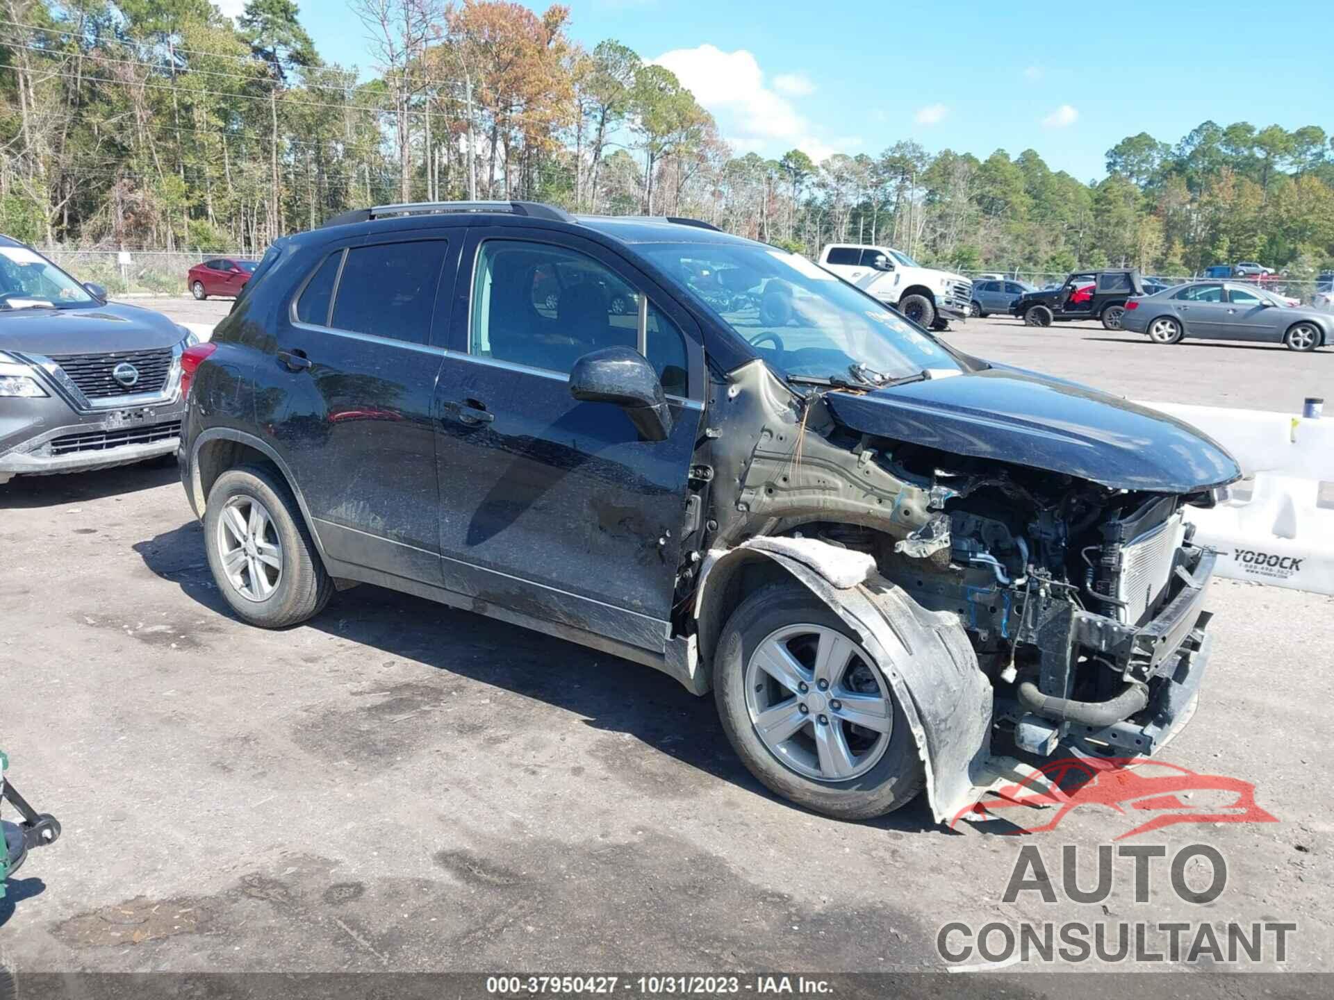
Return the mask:
<svg viewBox="0 0 1334 1000">
<path fill-rule="evenodd" d="M 826 625 L 784 625 L 755 647 L 746 708 L 770 753 L 819 781 L 874 768 L 894 731 L 894 704 L 871 657 Z"/>
</svg>

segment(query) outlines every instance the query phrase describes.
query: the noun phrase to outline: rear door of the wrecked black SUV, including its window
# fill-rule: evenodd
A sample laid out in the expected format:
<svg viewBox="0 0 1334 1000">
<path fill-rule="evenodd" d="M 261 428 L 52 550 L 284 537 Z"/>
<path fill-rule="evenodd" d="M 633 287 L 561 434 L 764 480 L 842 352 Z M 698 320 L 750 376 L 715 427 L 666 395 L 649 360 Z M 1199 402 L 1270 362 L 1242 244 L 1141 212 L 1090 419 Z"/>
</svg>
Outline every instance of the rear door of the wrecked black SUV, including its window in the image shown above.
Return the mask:
<svg viewBox="0 0 1334 1000">
<path fill-rule="evenodd" d="M 329 247 L 292 299 L 275 337 L 272 391 L 256 399 L 325 552 L 432 584 L 435 380 L 463 232 Z"/>
</svg>

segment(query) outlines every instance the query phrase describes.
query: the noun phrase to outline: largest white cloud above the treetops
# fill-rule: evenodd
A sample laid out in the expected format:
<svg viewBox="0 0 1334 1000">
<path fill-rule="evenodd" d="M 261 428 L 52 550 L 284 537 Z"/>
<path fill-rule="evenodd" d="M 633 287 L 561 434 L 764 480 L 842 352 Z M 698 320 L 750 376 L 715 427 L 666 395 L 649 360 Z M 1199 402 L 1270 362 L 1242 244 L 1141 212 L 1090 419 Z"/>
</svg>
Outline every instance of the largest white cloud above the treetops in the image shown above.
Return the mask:
<svg viewBox="0 0 1334 1000">
<path fill-rule="evenodd" d="M 838 140 L 840 145 L 835 147 L 818 137 L 811 123 L 788 100 L 812 93 L 815 85 L 802 73 L 780 73 L 772 85 L 767 84 L 759 61 L 743 48 L 723 52 L 706 44 L 672 49 L 650 61 L 676 75 L 695 100 L 718 119 L 719 128 L 738 152 L 782 156 L 796 147 L 819 163 L 844 152 L 848 143 L 859 143 Z"/>
</svg>

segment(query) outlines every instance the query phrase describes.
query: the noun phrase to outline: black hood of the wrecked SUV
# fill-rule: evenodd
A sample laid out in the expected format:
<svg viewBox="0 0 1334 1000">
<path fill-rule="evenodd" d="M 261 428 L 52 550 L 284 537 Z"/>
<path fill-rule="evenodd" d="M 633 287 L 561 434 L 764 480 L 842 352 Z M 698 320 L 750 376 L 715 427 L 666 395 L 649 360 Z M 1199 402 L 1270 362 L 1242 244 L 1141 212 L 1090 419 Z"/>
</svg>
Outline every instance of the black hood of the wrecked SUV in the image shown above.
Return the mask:
<svg viewBox="0 0 1334 1000">
<path fill-rule="evenodd" d="M 1241 476 L 1237 460 L 1166 413 L 1005 365 L 863 395 L 830 392 L 862 433 L 1029 465 L 1111 489 L 1193 493 Z"/>
</svg>

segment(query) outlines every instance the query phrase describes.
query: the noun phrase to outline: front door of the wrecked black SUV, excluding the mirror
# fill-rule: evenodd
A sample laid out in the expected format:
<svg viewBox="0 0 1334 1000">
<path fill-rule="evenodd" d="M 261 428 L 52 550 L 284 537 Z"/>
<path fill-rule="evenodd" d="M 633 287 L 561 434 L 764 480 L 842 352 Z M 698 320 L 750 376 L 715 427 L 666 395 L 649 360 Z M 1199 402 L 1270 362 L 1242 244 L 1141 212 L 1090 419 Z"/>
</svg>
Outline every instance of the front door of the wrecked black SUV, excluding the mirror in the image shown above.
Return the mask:
<svg viewBox="0 0 1334 1000">
<path fill-rule="evenodd" d="M 436 395 L 444 584 L 660 652 L 703 412 L 698 331 L 619 256 L 575 236 L 476 228 L 464 260 Z M 570 395 L 578 357 L 636 347 L 640 328 L 671 403 L 664 441 Z"/>
</svg>

